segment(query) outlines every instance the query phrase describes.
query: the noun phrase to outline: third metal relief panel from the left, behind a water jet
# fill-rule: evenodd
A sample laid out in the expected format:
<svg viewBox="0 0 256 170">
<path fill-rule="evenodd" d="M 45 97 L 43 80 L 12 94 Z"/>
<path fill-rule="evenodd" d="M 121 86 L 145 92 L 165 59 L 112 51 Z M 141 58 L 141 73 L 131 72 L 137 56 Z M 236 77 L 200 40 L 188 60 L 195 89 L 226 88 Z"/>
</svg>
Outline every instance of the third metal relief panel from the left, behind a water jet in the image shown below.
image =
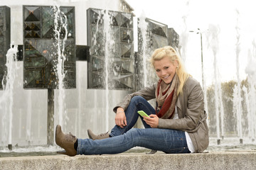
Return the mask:
<svg viewBox="0 0 256 170">
<path fill-rule="evenodd" d="M 87 9 L 89 89 L 134 89 L 133 43 L 131 13 Z"/>
</svg>

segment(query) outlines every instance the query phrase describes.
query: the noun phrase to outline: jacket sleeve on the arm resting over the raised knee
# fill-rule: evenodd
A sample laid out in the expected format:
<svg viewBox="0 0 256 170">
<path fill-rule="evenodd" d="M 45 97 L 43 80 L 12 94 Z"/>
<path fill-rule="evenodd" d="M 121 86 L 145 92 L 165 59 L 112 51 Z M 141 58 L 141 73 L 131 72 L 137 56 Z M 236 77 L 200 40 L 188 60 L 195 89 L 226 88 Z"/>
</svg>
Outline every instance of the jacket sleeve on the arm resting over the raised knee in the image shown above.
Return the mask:
<svg viewBox="0 0 256 170">
<path fill-rule="evenodd" d="M 113 109 L 114 113 L 117 113 L 117 108 L 119 108 L 119 107 L 124 108 L 124 111 L 125 111 L 127 109 L 127 107 L 129 106 L 131 99 L 134 96 L 142 96 L 143 98 L 146 99 L 146 101 L 156 98 L 155 91 L 156 91 L 156 84 L 153 84 L 152 86 L 148 86 L 142 90 L 139 90 L 132 94 L 128 94 L 127 96 L 125 96 L 123 98 L 123 100 L 120 103 L 117 104 L 117 106 L 114 107 L 114 109 Z"/>
</svg>

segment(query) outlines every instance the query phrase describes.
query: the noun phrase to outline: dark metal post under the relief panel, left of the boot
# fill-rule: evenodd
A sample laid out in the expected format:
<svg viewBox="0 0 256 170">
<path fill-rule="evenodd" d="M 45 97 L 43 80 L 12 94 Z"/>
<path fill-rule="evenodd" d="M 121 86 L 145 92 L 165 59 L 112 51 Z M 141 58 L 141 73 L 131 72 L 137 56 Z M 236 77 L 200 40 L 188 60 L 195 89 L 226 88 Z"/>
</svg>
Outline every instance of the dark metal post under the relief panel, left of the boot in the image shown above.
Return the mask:
<svg viewBox="0 0 256 170">
<path fill-rule="evenodd" d="M 54 137 L 54 89 L 48 89 L 47 145 L 53 145 Z"/>
</svg>

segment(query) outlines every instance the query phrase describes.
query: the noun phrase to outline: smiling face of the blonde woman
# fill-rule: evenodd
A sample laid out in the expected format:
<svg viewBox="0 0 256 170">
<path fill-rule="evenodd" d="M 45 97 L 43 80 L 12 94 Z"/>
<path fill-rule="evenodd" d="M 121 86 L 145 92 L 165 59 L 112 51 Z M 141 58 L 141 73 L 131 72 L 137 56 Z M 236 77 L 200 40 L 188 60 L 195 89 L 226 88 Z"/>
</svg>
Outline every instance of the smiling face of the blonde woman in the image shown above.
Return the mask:
<svg viewBox="0 0 256 170">
<path fill-rule="evenodd" d="M 176 73 L 178 62 L 174 64 L 169 60 L 169 57 L 164 57 L 159 61 L 154 61 L 154 69 L 157 76 L 162 79 L 166 84 L 170 84 Z"/>
</svg>

